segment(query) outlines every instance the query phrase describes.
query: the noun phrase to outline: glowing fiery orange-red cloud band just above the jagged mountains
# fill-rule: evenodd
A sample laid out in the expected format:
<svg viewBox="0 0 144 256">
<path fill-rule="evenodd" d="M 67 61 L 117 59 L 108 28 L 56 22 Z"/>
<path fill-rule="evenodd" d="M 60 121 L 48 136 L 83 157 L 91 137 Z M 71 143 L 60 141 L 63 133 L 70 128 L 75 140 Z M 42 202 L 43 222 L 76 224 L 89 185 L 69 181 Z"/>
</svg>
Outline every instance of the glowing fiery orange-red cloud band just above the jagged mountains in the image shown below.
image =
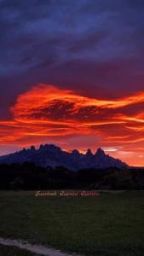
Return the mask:
<svg viewBox="0 0 144 256">
<path fill-rule="evenodd" d="M 130 164 L 143 165 L 144 91 L 117 100 L 79 96 L 71 90 L 38 84 L 18 96 L 10 108 L 11 120 L 0 121 L 0 143 L 29 145 L 54 141 L 70 149 L 83 136 L 85 147 L 110 148 Z M 95 145 L 92 142 L 95 142 Z M 84 150 L 84 143 L 77 145 Z M 135 153 L 134 155 L 124 152 Z M 118 148 L 117 150 L 113 148 Z M 140 149 L 141 148 L 141 149 Z M 120 153 L 121 152 L 121 153 Z"/>
</svg>

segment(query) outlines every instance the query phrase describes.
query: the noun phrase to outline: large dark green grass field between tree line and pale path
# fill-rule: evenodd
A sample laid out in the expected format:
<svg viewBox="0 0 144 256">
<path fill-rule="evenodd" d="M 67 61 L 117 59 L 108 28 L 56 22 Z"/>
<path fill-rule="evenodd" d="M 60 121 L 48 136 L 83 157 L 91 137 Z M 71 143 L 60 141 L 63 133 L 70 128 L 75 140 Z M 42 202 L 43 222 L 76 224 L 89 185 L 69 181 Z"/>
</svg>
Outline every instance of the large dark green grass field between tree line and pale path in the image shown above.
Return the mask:
<svg viewBox="0 0 144 256">
<path fill-rule="evenodd" d="M 89 256 L 144 255 L 144 191 L 101 193 L 94 198 L 34 195 L 0 192 L 1 237 Z"/>
</svg>

